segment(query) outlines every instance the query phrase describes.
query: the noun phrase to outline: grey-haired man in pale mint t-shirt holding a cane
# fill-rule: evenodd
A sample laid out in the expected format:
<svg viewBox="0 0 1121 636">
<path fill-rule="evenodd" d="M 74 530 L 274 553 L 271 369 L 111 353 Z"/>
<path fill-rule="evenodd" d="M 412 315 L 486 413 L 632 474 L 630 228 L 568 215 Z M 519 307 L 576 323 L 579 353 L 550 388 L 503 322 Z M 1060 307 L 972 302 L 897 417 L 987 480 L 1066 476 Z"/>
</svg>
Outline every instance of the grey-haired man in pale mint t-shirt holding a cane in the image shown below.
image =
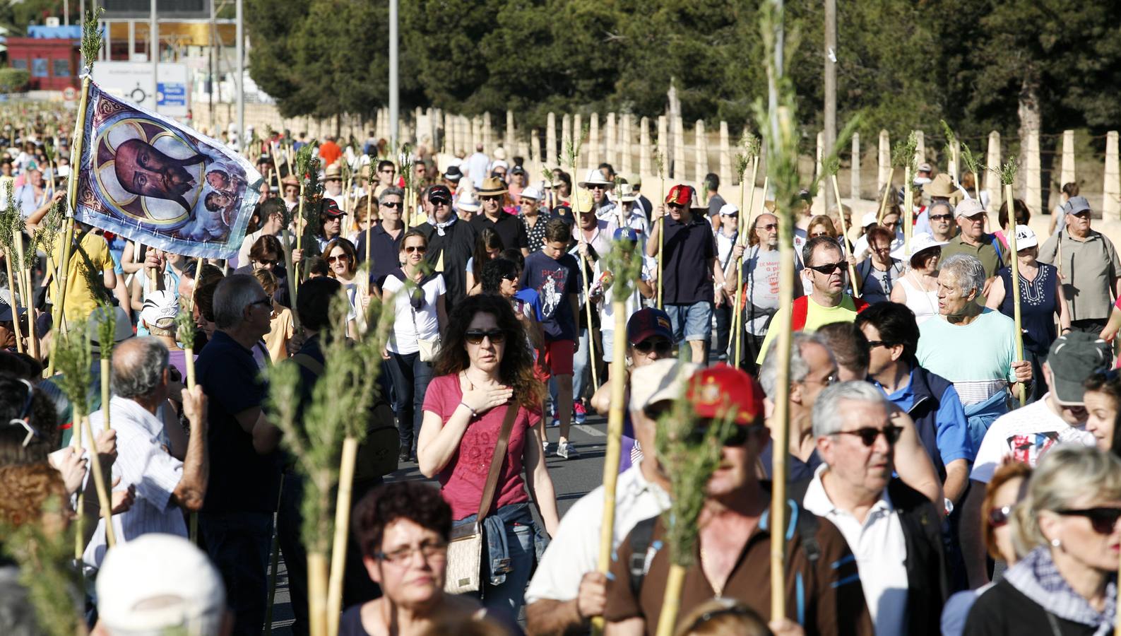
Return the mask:
<svg viewBox="0 0 1121 636">
<path fill-rule="evenodd" d="M 972 448 L 1008 412 L 1009 389 L 1031 381 L 1031 363 L 1016 359 L 1016 323 L 978 303 L 986 270 L 975 256 L 955 254 L 938 271 L 938 316 L 919 325 L 915 357 L 954 384 L 965 407 Z"/>
</svg>

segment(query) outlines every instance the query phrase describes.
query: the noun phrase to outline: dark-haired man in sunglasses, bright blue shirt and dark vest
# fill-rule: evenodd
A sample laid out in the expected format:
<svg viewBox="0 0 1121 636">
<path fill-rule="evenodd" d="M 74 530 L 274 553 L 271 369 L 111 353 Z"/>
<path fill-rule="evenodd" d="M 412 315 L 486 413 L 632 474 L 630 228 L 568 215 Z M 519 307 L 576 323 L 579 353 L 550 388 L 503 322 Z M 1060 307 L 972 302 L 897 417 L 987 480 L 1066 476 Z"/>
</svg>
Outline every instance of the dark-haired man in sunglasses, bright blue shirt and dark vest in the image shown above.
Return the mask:
<svg viewBox="0 0 1121 636">
<path fill-rule="evenodd" d="M 976 455 L 957 389 L 918 365 L 918 324 L 906 305 L 871 305 L 856 314 L 855 324 L 868 338 L 869 380 L 915 421 L 915 431 L 943 481 L 949 511 L 969 485 L 970 464 Z"/>
</svg>

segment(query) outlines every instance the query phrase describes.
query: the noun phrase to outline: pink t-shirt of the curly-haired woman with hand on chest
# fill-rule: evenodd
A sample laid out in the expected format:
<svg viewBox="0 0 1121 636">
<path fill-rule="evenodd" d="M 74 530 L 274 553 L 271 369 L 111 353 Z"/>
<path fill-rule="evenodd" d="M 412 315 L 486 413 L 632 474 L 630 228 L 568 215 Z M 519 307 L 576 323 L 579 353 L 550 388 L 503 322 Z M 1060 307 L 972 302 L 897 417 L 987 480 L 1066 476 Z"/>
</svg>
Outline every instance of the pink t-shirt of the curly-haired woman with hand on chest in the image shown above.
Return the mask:
<svg viewBox="0 0 1121 636">
<path fill-rule="evenodd" d="M 439 376 L 428 384 L 424 409 L 439 415 L 443 422 L 447 422 L 462 399 L 463 389 L 460 387 L 458 376 Z M 498 443 L 507 408 L 509 407 L 499 406 L 472 418 L 463 433 L 463 439 L 460 440 L 460 450 L 452 455 L 452 461 L 437 476 L 441 494 L 452 506 L 453 519 L 470 517 L 479 511 L 479 501 L 487 485 L 487 472 L 490 470 L 494 444 Z M 498 487 L 494 489 L 495 503 L 491 505 L 491 513 L 509 504 L 529 501 L 529 495 L 526 494 L 521 479 L 522 451 L 530 427 L 540 418 L 540 411 L 518 407 L 518 416 L 513 421 L 510 443 L 506 450 L 506 461 L 502 462 Z"/>
</svg>

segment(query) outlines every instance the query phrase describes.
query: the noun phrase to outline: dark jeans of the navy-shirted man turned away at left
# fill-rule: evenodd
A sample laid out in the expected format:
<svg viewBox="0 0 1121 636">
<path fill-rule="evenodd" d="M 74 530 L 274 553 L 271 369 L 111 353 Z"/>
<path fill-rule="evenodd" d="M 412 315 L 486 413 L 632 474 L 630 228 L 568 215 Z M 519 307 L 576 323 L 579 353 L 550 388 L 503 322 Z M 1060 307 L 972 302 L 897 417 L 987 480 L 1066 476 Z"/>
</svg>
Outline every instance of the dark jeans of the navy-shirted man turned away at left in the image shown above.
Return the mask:
<svg viewBox="0 0 1121 636">
<path fill-rule="evenodd" d="M 198 528 L 222 573 L 235 635 L 259 636 L 268 594 L 271 513 L 200 513 Z"/>
</svg>

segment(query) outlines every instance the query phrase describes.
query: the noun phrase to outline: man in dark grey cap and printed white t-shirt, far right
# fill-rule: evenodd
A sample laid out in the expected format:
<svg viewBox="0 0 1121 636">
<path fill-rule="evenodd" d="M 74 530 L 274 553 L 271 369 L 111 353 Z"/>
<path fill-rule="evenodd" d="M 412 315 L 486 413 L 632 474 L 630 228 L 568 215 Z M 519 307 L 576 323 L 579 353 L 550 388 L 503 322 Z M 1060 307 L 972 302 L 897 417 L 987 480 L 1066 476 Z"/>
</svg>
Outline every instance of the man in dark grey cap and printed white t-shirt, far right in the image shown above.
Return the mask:
<svg viewBox="0 0 1121 636">
<path fill-rule="evenodd" d="M 962 513 L 962 551 L 970 587 L 988 580 L 980 537 L 985 485 L 1006 458 L 1035 467 L 1056 444 L 1092 446 L 1094 436 L 1085 430 L 1082 382 L 1095 370 L 1108 368 L 1111 359 L 1109 343 L 1094 335 L 1071 332 L 1059 337 L 1043 365 L 1048 393 L 1038 402 L 1001 415 L 989 427 L 973 461 L 972 483 Z"/>
</svg>

